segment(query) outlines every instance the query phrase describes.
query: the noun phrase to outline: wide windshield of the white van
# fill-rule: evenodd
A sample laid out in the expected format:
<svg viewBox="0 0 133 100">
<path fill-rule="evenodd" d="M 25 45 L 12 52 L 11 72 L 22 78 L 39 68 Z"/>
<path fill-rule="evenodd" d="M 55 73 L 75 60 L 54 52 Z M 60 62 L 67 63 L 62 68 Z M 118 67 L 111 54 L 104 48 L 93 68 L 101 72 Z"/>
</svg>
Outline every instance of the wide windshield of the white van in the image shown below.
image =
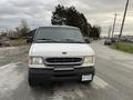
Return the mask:
<svg viewBox="0 0 133 100">
<path fill-rule="evenodd" d="M 39 28 L 34 42 L 84 43 L 79 29 L 74 28 Z"/>
</svg>

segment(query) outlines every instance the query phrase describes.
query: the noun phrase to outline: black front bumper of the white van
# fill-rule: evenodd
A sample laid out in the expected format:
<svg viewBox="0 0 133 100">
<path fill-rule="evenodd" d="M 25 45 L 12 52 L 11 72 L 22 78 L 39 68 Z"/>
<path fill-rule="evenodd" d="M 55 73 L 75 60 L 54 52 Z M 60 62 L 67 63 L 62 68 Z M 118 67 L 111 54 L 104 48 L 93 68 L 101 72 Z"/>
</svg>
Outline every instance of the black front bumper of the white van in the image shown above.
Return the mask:
<svg viewBox="0 0 133 100">
<path fill-rule="evenodd" d="M 82 74 L 95 73 L 94 67 L 81 67 L 73 70 L 53 70 L 53 69 L 39 69 L 29 68 L 29 79 L 33 81 L 65 81 L 65 80 L 81 80 Z"/>
</svg>

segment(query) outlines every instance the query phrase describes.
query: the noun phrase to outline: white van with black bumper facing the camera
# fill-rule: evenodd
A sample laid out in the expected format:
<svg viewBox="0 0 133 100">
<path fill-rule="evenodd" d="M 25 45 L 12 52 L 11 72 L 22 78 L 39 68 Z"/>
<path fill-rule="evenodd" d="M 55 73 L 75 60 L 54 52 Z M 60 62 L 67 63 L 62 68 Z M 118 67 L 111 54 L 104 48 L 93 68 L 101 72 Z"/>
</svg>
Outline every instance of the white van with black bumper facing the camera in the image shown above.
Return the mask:
<svg viewBox="0 0 133 100">
<path fill-rule="evenodd" d="M 95 53 L 74 27 L 40 27 L 29 51 L 29 84 L 80 80 L 91 82 Z"/>
</svg>

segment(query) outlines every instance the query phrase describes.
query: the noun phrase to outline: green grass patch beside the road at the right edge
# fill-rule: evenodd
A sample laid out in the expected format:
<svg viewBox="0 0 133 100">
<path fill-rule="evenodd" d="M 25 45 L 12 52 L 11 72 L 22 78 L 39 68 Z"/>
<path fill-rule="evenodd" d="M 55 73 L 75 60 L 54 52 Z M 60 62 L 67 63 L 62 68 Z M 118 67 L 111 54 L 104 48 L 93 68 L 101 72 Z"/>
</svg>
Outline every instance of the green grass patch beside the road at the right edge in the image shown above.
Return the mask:
<svg viewBox="0 0 133 100">
<path fill-rule="evenodd" d="M 133 43 L 127 42 L 116 42 L 111 46 L 112 49 L 116 49 L 120 51 L 133 53 Z"/>
</svg>

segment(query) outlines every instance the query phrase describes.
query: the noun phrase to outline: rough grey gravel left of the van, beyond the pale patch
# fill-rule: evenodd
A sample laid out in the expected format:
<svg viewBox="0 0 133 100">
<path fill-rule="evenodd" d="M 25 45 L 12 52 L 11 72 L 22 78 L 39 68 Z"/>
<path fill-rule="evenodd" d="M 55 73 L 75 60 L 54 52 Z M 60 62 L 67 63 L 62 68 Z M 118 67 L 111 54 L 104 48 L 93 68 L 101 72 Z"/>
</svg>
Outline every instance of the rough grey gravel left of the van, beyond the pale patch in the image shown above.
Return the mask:
<svg viewBox="0 0 133 100">
<path fill-rule="evenodd" d="M 30 46 L 0 48 L 0 67 L 7 62 L 21 61 L 28 57 Z M 18 57 L 18 59 L 16 59 Z M 25 59 L 27 60 L 27 59 Z"/>
</svg>

